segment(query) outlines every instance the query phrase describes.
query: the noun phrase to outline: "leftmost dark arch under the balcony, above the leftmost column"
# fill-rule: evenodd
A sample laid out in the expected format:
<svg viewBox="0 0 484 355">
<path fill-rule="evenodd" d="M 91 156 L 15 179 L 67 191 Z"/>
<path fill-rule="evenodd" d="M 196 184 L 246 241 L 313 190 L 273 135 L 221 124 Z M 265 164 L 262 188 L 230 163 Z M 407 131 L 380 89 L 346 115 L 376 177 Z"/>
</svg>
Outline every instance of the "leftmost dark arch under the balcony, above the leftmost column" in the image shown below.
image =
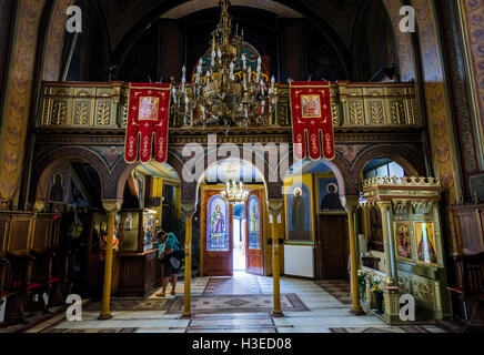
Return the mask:
<svg viewBox="0 0 484 355">
<path fill-rule="evenodd" d="M 34 193 L 34 201 L 48 202 L 49 181 L 53 172 L 61 165 L 75 161 L 85 162 L 98 172 L 101 181 L 101 199 L 109 197 L 105 196 L 104 193 L 107 179 L 109 178 L 109 171 L 105 163 L 87 148 L 67 146 L 49 152 L 49 154 L 46 154 L 44 158 L 33 168 L 32 181 L 36 190 L 32 191 L 32 193 Z"/>
</svg>

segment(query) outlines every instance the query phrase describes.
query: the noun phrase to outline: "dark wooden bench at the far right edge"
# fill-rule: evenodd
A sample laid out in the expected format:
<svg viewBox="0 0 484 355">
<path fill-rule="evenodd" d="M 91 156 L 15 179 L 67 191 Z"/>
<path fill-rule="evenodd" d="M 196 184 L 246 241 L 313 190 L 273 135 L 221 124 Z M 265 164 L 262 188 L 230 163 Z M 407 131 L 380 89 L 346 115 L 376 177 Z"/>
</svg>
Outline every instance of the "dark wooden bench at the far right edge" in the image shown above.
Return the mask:
<svg viewBox="0 0 484 355">
<path fill-rule="evenodd" d="M 484 327 L 484 252 L 455 257 L 457 285 L 447 287 L 452 316 L 454 315 L 453 296 L 464 305 L 468 327 Z"/>
</svg>

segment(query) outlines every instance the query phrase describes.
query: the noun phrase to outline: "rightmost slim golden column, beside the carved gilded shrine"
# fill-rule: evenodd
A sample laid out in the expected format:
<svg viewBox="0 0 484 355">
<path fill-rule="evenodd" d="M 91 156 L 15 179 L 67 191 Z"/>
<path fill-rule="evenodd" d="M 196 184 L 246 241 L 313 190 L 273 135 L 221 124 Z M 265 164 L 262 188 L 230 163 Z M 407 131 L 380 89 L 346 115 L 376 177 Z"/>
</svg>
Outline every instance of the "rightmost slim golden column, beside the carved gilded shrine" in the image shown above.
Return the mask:
<svg viewBox="0 0 484 355">
<path fill-rule="evenodd" d="M 360 304 L 360 290 L 357 284 L 357 268 L 359 268 L 359 255 L 357 255 L 357 235 L 355 231 L 355 212 L 359 205 L 359 196 L 345 196 L 344 205 L 347 212 L 347 226 L 350 233 L 350 257 L 351 257 L 351 294 L 353 305 L 351 313 L 355 315 L 363 314 L 363 310 Z"/>
</svg>

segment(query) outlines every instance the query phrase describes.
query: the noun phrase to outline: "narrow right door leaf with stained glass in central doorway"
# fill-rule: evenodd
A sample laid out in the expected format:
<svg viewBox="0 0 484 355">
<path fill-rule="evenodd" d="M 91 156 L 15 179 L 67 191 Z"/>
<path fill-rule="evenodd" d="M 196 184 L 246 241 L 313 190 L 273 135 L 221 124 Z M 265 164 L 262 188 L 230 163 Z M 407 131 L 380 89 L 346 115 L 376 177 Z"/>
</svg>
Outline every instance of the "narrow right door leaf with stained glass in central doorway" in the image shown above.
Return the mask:
<svg viewBox="0 0 484 355">
<path fill-rule="evenodd" d="M 251 191 L 245 204 L 248 227 L 245 229 L 245 268 L 248 273 L 264 275 L 262 191 Z"/>
</svg>

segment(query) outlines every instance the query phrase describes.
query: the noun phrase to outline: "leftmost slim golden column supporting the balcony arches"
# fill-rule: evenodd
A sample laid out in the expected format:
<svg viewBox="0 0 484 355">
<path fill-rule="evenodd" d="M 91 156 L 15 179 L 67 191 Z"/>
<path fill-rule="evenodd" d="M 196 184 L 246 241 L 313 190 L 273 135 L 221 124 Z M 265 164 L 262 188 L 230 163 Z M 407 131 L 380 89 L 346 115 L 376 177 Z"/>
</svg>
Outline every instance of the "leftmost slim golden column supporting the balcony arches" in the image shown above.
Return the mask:
<svg viewBox="0 0 484 355">
<path fill-rule="evenodd" d="M 110 311 L 111 301 L 111 278 L 112 278 L 112 243 L 114 235 L 114 217 L 121 210 L 121 201 L 107 200 L 102 201 L 102 205 L 108 213 L 108 235 L 105 245 L 105 263 L 104 263 L 104 287 L 102 291 L 102 311 L 98 320 L 110 320 L 112 317 Z"/>
</svg>

